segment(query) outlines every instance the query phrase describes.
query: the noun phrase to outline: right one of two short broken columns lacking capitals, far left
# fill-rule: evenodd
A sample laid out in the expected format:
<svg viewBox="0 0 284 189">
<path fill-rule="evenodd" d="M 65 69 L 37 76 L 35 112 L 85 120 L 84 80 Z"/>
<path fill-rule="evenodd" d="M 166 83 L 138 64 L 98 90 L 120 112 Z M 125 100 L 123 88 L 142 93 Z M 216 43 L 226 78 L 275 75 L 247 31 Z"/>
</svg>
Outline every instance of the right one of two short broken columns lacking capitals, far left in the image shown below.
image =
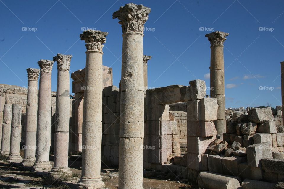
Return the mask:
<svg viewBox="0 0 284 189">
<path fill-rule="evenodd" d="M 12 106 L 12 125 L 11 125 L 11 141 L 10 154 L 7 158 L 9 163 L 20 163 L 22 157 L 20 156 L 20 142 L 21 142 L 21 121 L 22 121 L 22 105 L 13 104 Z"/>
</svg>

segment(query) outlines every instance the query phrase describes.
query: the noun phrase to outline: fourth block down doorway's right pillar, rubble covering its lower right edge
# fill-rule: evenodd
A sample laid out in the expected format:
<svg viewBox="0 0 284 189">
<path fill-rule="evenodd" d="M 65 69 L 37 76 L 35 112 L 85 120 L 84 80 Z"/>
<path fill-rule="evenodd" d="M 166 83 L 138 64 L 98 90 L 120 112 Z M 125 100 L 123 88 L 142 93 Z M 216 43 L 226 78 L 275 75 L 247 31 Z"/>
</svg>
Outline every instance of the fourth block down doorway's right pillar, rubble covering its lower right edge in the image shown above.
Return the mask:
<svg viewBox="0 0 284 189">
<path fill-rule="evenodd" d="M 187 150 L 188 153 L 205 154 L 209 152 L 209 144 L 216 139 L 213 137 L 187 137 Z"/>
</svg>

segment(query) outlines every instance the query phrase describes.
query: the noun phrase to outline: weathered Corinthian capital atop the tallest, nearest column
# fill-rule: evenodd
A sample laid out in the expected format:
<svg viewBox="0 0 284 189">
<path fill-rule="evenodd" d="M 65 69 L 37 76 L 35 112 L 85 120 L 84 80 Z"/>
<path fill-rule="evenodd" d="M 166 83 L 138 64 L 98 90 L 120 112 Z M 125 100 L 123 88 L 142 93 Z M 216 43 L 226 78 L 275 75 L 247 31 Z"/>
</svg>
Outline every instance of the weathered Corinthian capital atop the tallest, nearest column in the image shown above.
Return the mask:
<svg viewBox="0 0 284 189">
<path fill-rule="evenodd" d="M 133 3 L 121 6 L 118 11 L 112 14 L 112 18 L 118 18 L 124 32 L 141 32 L 144 31 L 144 24 L 148 20 L 148 14 L 151 9 Z"/>
</svg>

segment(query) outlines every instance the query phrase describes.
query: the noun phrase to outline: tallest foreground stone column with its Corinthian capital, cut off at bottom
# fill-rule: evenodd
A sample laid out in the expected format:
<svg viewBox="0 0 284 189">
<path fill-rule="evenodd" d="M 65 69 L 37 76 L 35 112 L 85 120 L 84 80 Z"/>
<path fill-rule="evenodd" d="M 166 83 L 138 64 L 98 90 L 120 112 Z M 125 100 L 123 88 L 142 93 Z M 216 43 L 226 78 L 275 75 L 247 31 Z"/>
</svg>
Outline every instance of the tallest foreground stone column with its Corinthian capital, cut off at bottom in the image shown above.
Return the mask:
<svg viewBox="0 0 284 189">
<path fill-rule="evenodd" d="M 122 24 L 120 189 L 142 189 L 144 138 L 143 30 L 151 9 L 133 3 L 113 13 Z"/>
</svg>

